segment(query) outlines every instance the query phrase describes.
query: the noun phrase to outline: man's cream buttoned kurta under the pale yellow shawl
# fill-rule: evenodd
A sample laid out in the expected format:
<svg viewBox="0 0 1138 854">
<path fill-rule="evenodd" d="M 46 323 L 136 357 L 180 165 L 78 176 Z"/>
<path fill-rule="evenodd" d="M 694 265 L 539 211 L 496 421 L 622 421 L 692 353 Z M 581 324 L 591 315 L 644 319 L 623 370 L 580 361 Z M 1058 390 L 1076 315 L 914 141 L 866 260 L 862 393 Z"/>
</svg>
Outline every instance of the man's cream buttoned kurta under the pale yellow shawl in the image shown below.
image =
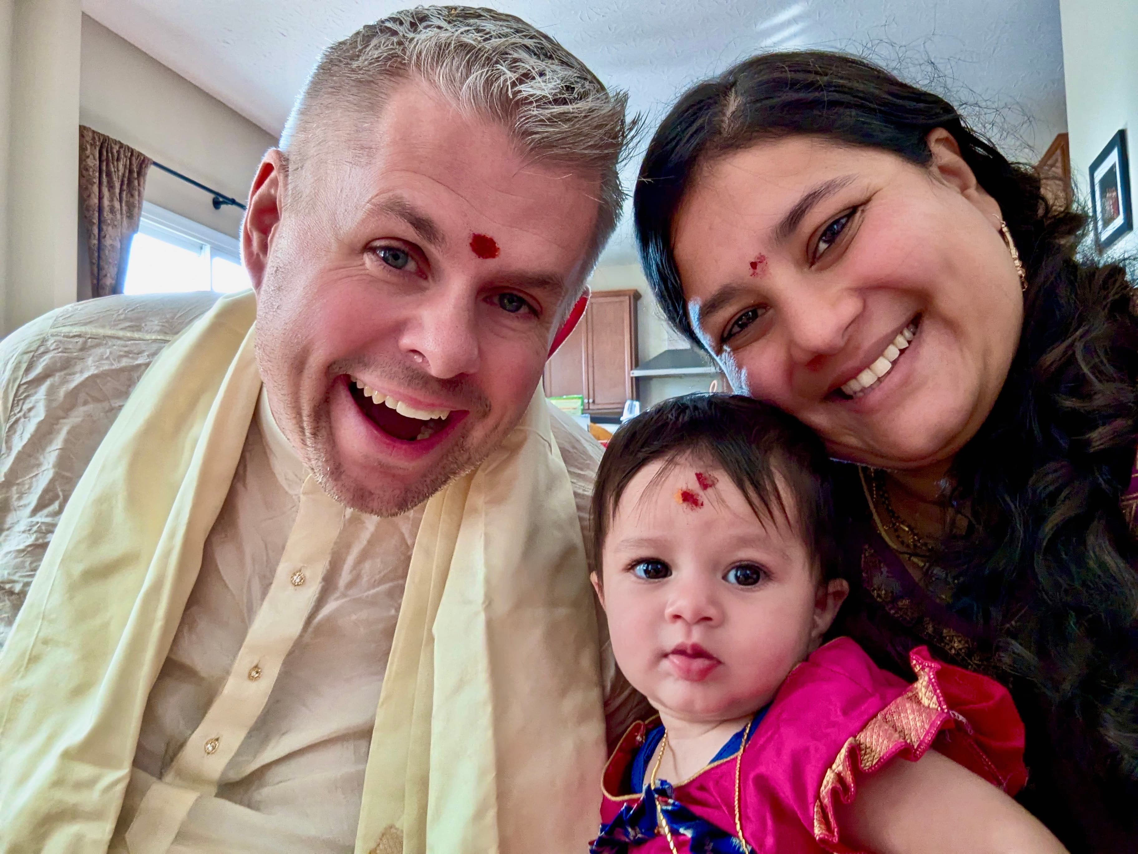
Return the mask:
<svg viewBox="0 0 1138 854">
<path fill-rule="evenodd" d="M 0 345 L 0 559 L 31 558 L 0 564 L 0 640 L 66 500 L 58 493 L 85 466 L 81 453 L 60 460 L 60 446 L 82 435 L 93 451 L 92 421 L 109 426 L 147 358 L 197 313 L 191 305 L 206 307 L 98 301 Z M 584 529 L 599 447 L 564 421 L 554 435 Z M 113 851 L 352 851 L 420 517 L 421 508 L 378 519 L 331 501 L 262 397 L 149 696 Z M 607 646 L 602 672 L 619 730 L 638 704 Z M 181 780 L 216 796 L 187 795 Z"/>
</svg>

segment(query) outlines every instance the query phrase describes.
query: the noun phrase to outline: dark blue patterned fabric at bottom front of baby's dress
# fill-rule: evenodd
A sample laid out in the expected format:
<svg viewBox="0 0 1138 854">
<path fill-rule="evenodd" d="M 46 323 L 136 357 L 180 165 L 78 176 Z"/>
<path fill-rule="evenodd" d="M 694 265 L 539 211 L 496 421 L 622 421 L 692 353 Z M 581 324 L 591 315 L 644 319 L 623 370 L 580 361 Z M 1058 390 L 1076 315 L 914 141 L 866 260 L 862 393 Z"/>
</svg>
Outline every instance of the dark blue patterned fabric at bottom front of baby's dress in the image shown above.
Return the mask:
<svg viewBox="0 0 1138 854">
<path fill-rule="evenodd" d="M 601 828 L 589 846 L 589 854 L 626 854 L 629 848 L 652 839 L 657 832 L 657 805 L 671 829 L 673 839 L 685 836 L 692 854 L 752 854 L 734 835 L 701 819 L 675 799 L 671 783 L 661 780 L 644 789 L 635 804 L 625 804 L 617 816 Z"/>
</svg>

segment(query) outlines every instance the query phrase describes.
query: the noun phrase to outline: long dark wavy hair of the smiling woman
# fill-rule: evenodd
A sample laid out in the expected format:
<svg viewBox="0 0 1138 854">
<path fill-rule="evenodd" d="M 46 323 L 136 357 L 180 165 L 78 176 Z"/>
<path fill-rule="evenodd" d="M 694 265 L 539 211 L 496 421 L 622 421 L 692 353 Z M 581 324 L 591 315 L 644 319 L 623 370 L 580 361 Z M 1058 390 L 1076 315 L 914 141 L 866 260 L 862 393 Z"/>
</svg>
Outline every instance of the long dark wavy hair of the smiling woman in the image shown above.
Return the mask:
<svg viewBox="0 0 1138 854">
<path fill-rule="evenodd" d="M 671 253 L 702 166 L 800 134 L 926 166 L 937 128 L 999 203 L 1028 276 L 1007 380 L 954 462 L 951 499 L 971 524 L 938 563 L 958 581 L 953 607 L 986 630 L 1001 670 L 1032 687 L 1052 736 L 1079 721 L 1097 745 L 1072 745 L 1079 762 L 1133 780 L 1138 577 L 1119 502 L 1138 447 L 1138 321 L 1124 269 L 1077 260 L 1086 217 L 1049 203 L 1030 167 L 942 98 L 853 57 L 767 54 L 692 88 L 655 132 L 634 197 L 641 260 L 668 320 L 702 346 Z"/>
</svg>

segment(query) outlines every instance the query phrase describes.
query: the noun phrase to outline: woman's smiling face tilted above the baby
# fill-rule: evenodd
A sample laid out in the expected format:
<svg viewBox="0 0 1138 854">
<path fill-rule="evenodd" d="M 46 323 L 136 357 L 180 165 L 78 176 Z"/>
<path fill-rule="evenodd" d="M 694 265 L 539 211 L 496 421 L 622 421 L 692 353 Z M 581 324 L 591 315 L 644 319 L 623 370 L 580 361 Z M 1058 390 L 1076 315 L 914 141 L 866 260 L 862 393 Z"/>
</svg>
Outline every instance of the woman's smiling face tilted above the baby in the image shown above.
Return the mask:
<svg viewBox="0 0 1138 854">
<path fill-rule="evenodd" d="M 703 166 L 673 230 L 692 326 L 735 391 L 888 468 L 941 463 L 975 435 L 1023 320 L 999 206 L 946 131 L 929 142 L 929 167 L 760 142 Z"/>
</svg>

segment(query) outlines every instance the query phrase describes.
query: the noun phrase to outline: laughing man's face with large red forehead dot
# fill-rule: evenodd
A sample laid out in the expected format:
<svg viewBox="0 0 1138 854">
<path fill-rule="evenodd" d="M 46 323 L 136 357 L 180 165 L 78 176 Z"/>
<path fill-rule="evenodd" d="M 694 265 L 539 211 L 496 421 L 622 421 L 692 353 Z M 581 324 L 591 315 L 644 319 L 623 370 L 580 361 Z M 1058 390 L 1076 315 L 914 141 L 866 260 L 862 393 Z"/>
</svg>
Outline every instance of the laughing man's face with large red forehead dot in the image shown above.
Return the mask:
<svg viewBox="0 0 1138 854">
<path fill-rule="evenodd" d="M 275 420 L 325 492 L 391 516 L 520 420 L 586 272 L 599 176 L 535 165 L 417 82 L 382 109 L 288 191 L 270 151 L 244 255 Z"/>
</svg>

